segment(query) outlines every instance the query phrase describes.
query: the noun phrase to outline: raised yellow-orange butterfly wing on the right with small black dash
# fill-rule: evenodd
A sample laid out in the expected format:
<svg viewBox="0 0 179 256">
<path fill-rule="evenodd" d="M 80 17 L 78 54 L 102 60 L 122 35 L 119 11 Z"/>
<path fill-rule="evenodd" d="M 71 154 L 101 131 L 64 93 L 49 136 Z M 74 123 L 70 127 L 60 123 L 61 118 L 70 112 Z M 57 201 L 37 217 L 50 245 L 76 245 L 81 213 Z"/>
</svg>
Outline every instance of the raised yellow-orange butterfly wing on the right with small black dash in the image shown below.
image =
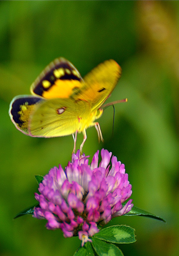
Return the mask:
<svg viewBox="0 0 179 256">
<path fill-rule="evenodd" d="M 85 77 L 82 88 L 72 97 L 91 102 L 91 111 L 99 108 L 115 88 L 121 77 L 121 67 L 114 60 L 106 60 L 92 69 Z"/>
</svg>

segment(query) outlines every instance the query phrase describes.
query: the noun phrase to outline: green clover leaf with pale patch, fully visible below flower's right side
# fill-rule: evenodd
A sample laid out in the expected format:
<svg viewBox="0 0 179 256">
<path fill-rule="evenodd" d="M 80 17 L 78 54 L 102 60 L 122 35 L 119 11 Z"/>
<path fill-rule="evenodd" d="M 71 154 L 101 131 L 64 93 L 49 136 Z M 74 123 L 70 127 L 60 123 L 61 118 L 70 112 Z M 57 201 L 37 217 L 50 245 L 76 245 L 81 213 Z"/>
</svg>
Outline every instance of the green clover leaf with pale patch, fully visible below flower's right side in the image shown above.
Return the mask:
<svg viewBox="0 0 179 256">
<path fill-rule="evenodd" d="M 101 229 L 94 237 L 115 244 L 130 244 L 136 242 L 134 231 L 134 228 L 116 225 Z"/>
</svg>

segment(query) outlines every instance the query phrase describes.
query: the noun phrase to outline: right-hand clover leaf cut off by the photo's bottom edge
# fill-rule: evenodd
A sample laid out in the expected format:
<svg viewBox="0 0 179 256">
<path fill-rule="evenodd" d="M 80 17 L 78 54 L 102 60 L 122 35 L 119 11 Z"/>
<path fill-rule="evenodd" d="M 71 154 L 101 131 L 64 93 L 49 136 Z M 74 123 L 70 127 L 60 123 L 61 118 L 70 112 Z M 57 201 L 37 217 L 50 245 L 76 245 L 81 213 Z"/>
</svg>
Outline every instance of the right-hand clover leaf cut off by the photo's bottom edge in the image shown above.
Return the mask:
<svg viewBox="0 0 179 256">
<path fill-rule="evenodd" d="M 124 256 L 121 250 L 114 244 L 106 243 L 94 236 L 92 241 L 92 246 L 98 256 Z"/>
</svg>

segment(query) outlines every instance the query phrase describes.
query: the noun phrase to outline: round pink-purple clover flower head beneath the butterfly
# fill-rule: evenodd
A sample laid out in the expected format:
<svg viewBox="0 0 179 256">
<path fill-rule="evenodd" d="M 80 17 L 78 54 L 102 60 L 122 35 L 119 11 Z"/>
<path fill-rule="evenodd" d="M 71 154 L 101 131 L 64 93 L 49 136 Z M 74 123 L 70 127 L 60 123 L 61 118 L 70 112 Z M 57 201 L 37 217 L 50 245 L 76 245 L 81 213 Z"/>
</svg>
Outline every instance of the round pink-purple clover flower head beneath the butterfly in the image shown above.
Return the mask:
<svg viewBox="0 0 179 256">
<path fill-rule="evenodd" d="M 89 156 L 80 156 L 78 150 L 65 170 L 61 165 L 52 168 L 39 184 L 40 195 L 35 193 L 40 207 L 33 217 L 48 220 L 48 229 L 61 228 L 65 237 L 78 235 L 82 246 L 99 232 L 97 224 L 103 226 L 133 206 L 132 199 L 122 206 L 132 194 L 124 164 L 102 149 L 98 165 L 98 154 L 89 165 Z"/>
</svg>

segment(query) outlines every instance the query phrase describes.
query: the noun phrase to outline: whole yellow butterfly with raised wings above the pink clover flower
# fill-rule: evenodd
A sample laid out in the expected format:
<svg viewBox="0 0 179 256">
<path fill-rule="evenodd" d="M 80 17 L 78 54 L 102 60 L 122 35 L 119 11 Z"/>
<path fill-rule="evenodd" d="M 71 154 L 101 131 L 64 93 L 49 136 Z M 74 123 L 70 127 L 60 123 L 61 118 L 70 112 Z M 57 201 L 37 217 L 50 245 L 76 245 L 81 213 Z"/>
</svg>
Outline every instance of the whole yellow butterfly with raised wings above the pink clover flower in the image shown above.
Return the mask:
<svg viewBox="0 0 179 256">
<path fill-rule="evenodd" d="M 64 58 L 55 59 L 31 85 L 32 95 L 13 98 L 9 108 L 12 123 L 19 131 L 32 137 L 72 134 L 73 153 L 77 132 L 82 132 L 82 153 L 88 127 L 95 126 L 99 141 L 103 141 L 99 123 L 95 120 L 102 115 L 101 106 L 120 76 L 121 67 L 114 60 L 104 61 L 82 78 L 71 62 Z"/>
</svg>

